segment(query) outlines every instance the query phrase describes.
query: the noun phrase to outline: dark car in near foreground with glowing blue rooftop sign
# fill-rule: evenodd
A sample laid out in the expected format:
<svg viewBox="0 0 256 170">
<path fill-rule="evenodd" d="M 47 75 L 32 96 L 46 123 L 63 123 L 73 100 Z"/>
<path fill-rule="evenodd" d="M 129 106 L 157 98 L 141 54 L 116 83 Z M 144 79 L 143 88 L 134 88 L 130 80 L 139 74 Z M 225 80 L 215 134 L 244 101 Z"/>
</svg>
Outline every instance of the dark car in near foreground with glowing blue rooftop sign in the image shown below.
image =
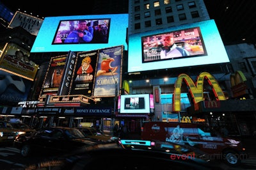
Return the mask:
<svg viewBox="0 0 256 170">
<path fill-rule="evenodd" d="M 118 143 L 97 144 L 77 153 L 30 164 L 26 169 L 227 169 L 226 165 L 214 164 L 200 156 L 186 157 L 182 152 L 156 148 L 150 141 L 118 139 Z"/>
</svg>

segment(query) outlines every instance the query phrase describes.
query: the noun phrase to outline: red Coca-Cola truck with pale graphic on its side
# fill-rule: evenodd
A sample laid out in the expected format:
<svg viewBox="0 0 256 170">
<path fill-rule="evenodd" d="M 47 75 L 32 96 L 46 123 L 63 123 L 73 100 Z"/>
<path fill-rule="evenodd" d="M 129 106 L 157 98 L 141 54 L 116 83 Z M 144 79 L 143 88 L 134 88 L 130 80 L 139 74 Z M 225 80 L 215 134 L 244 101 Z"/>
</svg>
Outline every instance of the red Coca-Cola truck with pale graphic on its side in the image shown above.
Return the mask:
<svg viewBox="0 0 256 170">
<path fill-rule="evenodd" d="M 198 123 L 144 122 L 141 139 L 154 141 L 160 146 L 172 147 L 172 143 L 193 147 L 208 154 L 211 159 L 224 160 L 230 166 L 238 166 L 248 158 L 241 141 L 223 137 L 209 126 Z"/>
</svg>

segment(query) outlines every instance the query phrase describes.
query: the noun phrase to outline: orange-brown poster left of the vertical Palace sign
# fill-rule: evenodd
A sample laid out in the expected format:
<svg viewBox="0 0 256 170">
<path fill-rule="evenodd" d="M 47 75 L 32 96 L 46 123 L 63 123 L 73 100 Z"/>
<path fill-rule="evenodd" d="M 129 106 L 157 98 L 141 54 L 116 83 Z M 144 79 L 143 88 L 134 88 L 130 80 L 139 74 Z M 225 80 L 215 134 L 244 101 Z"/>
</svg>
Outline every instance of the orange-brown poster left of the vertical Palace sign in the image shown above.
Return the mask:
<svg viewBox="0 0 256 170">
<path fill-rule="evenodd" d="M 57 95 L 65 68 L 67 55 L 51 58 L 45 75 L 40 97 Z"/>
</svg>

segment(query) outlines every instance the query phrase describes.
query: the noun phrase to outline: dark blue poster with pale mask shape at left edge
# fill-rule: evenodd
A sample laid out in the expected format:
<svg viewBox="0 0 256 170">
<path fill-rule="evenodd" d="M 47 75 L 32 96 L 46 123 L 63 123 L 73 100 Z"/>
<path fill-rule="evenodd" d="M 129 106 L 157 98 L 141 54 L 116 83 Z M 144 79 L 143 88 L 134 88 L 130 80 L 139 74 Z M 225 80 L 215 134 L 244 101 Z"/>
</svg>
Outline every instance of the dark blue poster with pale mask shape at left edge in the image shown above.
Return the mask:
<svg viewBox="0 0 256 170">
<path fill-rule="evenodd" d="M 0 105 L 17 105 L 26 101 L 32 81 L 0 70 Z"/>
</svg>

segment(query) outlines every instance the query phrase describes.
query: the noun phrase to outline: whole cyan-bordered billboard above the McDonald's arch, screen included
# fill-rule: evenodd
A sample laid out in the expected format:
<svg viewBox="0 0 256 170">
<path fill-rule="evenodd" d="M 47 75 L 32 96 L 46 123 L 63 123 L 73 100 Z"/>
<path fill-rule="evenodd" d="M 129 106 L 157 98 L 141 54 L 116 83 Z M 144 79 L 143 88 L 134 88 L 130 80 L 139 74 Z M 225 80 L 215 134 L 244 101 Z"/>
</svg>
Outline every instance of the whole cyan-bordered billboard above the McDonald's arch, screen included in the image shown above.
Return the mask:
<svg viewBox="0 0 256 170">
<path fill-rule="evenodd" d="M 129 35 L 128 55 L 128 72 L 229 62 L 214 20 Z"/>
</svg>

